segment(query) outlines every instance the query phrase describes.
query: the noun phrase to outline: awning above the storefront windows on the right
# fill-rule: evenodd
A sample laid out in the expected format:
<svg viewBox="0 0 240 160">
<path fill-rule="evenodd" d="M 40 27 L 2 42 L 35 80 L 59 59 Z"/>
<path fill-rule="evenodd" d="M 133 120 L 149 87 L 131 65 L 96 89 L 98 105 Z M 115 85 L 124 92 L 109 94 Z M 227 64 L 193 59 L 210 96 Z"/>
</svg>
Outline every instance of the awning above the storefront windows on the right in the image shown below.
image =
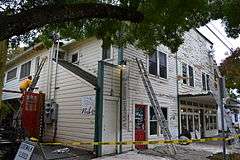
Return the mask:
<svg viewBox="0 0 240 160">
<path fill-rule="evenodd" d="M 201 94 L 182 94 L 179 95 L 179 100 L 217 106 L 217 102 L 211 92 Z"/>
</svg>

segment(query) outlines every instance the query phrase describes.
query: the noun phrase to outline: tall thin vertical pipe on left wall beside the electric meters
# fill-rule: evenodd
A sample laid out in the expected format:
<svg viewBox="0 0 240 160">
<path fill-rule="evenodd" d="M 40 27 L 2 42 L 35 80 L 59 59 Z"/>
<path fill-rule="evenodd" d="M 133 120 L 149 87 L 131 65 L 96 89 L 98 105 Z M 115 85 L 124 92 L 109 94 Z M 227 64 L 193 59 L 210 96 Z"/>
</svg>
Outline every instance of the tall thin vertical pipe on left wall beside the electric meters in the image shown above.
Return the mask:
<svg viewBox="0 0 240 160">
<path fill-rule="evenodd" d="M 55 82 L 54 82 L 54 96 L 53 100 L 56 103 L 56 95 L 57 95 L 57 73 L 58 73 L 58 52 L 59 52 L 59 39 L 57 40 L 57 52 L 56 52 L 56 70 L 55 70 Z M 56 110 L 56 119 L 54 124 L 54 134 L 53 134 L 53 141 L 55 141 L 57 136 L 57 122 L 58 122 L 58 105 L 55 106 Z"/>
</svg>

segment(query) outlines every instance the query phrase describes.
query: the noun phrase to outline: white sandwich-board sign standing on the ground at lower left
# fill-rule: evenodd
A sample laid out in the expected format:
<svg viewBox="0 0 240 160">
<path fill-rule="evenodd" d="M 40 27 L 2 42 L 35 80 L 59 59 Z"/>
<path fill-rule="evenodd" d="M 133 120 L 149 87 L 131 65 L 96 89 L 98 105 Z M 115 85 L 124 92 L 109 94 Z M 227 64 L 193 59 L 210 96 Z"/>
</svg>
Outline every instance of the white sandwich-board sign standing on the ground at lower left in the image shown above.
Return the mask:
<svg viewBox="0 0 240 160">
<path fill-rule="evenodd" d="M 33 150 L 33 145 L 22 142 L 14 160 L 30 160 Z"/>
</svg>

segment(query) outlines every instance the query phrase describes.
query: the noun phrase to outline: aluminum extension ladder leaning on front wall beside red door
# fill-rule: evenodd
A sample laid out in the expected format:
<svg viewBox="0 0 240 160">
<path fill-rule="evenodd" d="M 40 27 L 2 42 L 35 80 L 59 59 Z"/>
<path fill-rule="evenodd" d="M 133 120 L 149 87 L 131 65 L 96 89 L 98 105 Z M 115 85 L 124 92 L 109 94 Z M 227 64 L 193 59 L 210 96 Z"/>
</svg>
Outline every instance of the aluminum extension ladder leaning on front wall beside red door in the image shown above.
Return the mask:
<svg viewBox="0 0 240 160">
<path fill-rule="evenodd" d="M 147 91 L 148 98 L 151 102 L 151 105 L 154 108 L 154 113 L 156 115 L 157 121 L 160 124 L 160 128 L 161 128 L 161 131 L 163 133 L 164 139 L 165 140 L 171 140 L 172 135 L 171 135 L 170 130 L 168 128 L 167 120 L 165 119 L 164 114 L 162 112 L 162 109 L 159 105 L 159 102 L 158 102 L 156 94 L 153 90 L 152 84 L 151 84 L 151 82 L 148 78 L 148 74 L 147 74 L 146 69 L 143 65 L 143 62 L 142 62 L 142 60 L 139 60 L 137 58 L 136 58 L 136 61 L 137 61 L 138 68 L 139 68 L 140 73 L 141 73 L 141 77 L 142 77 L 144 87 Z M 176 147 L 173 144 L 169 144 L 168 147 L 169 147 L 169 151 L 170 151 L 171 154 L 176 154 Z"/>
</svg>

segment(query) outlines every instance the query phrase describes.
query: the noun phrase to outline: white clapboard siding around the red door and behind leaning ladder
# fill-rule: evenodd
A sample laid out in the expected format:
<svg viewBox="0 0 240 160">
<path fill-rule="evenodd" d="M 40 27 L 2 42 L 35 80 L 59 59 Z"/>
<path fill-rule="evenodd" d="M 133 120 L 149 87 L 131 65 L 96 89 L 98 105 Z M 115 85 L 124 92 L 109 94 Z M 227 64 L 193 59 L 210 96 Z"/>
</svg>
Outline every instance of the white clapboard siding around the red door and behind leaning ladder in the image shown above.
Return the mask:
<svg viewBox="0 0 240 160">
<path fill-rule="evenodd" d="M 175 58 L 174 55 L 167 49 L 167 47 L 160 46 L 159 50 L 167 54 L 167 79 L 161 79 L 153 75 L 149 75 L 149 79 L 152 83 L 154 91 L 157 95 L 160 106 L 168 108 L 168 118 L 175 116 L 174 120 L 171 120 L 169 124 L 170 131 L 174 137 L 177 137 L 177 93 L 176 93 L 176 70 L 175 70 Z M 146 69 L 147 69 L 147 55 L 144 54 L 141 50 L 137 50 L 132 46 L 124 48 L 124 59 L 127 61 L 128 68 L 128 105 L 130 115 L 129 127 L 128 130 L 125 129 L 123 132 L 124 140 L 135 140 L 135 131 L 134 131 L 134 117 L 135 117 L 135 105 L 144 104 L 150 105 L 146 90 L 144 88 L 141 75 L 139 73 L 139 68 L 135 61 L 135 57 L 142 59 Z M 148 118 L 148 116 L 146 117 Z M 149 122 L 149 120 L 147 120 Z M 147 124 L 149 127 L 149 124 Z M 159 139 L 162 138 L 162 135 L 151 137 L 149 134 L 149 128 L 147 128 L 147 139 Z M 132 146 L 133 147 L 133 146 Z M 124 148 L 127 150 L 128 148 Z"/>
</svg>

